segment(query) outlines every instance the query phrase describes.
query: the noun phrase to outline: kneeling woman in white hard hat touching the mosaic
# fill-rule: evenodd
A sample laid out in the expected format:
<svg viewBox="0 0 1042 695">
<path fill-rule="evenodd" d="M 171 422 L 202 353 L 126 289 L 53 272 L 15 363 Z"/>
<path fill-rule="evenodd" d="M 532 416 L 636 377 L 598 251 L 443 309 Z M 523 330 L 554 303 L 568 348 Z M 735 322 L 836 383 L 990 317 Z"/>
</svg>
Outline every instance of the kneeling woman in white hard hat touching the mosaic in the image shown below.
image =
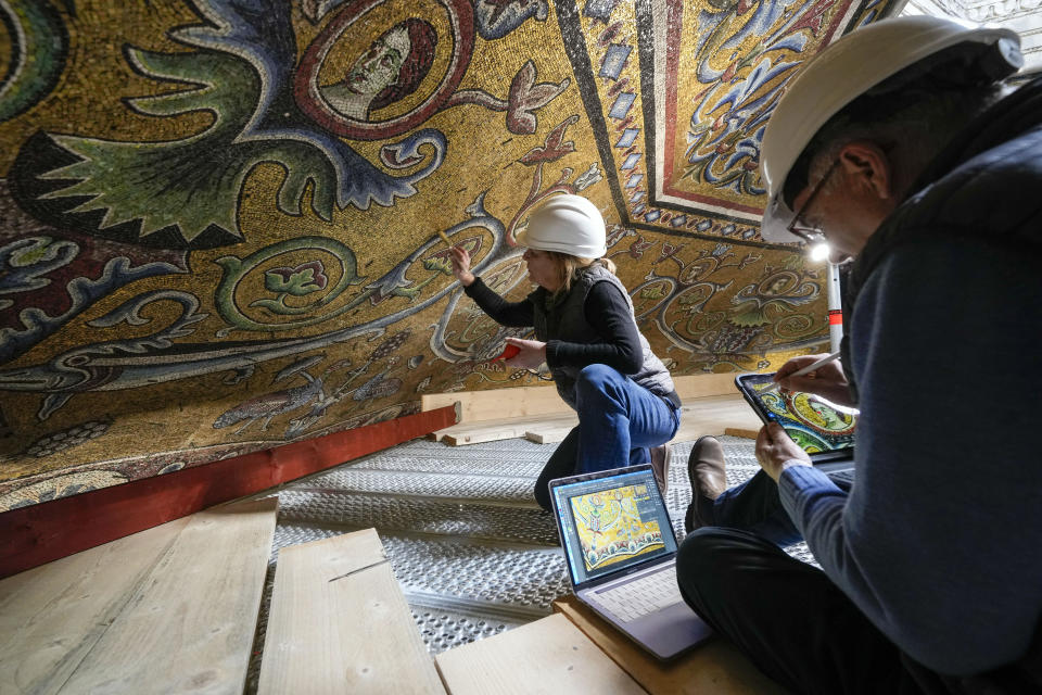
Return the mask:
<svg viewBox="0 0 1042 695">
<path fill-rule="evenodd" d="M 470 255 L 453 247 L 453 275 L 465 292 L 503 326 L 533 326 L 537 340 L 507 338 L 521 352 L 512 367 L 549 366 L 557 391 L 579 413 L 579 427 L 557 447 L 535 483 L 550 508 L 548 483 L 581 472 L 652 463 L 665 491 L 663 446 L 679 425 L 673 379 L 637 329 L 633 303 L 601 256 L 605 220 L 585 198 L 555 195 L 518 233 L 538 288 L 507 302 L 470 271 Z M 653 447 L 655 451 L 651 451 Z"/>
</svg>

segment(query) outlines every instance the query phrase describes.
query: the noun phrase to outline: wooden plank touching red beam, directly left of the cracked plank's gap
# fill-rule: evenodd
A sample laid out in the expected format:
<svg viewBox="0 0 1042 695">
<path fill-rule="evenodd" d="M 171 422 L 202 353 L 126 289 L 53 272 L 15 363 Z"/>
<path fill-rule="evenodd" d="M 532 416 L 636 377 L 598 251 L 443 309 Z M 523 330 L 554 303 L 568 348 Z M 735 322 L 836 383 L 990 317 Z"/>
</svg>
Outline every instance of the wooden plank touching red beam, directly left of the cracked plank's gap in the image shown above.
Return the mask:
<svg viewBox="0 0 1042 695">
<path fill-rule="evenodd" d="M 277 509 L 270 498 L 193 515 L 62 692 L 241 693 Z"/>
</svg>

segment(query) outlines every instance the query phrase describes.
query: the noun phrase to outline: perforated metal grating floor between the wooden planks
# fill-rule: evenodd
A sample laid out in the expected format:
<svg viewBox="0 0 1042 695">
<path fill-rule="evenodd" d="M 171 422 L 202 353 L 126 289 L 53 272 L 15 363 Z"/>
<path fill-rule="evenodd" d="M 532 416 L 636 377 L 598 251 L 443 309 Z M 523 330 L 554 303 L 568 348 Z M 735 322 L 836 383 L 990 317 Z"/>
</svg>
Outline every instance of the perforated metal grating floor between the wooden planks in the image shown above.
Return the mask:
<svg viewBox="0 0 1042 695">
<path fill-rule="evenodd" d="M 730 484 L 760 469 L 750 440 L 721 442 Z M 691 498 L 691 446 L 673 445 L 666 506 L 678 539 Z M 374 527 L 432 654 L 549 615 L 571 585 L 554 519 L 536 506 L 532 486 L 555 447 L 416 440 L 272 492 L 279 518 L 245 692 L 257 690 L 275 564 L 288 545 Z M 810 559 L 805 546 L 788 549 Z"/>
</svg>

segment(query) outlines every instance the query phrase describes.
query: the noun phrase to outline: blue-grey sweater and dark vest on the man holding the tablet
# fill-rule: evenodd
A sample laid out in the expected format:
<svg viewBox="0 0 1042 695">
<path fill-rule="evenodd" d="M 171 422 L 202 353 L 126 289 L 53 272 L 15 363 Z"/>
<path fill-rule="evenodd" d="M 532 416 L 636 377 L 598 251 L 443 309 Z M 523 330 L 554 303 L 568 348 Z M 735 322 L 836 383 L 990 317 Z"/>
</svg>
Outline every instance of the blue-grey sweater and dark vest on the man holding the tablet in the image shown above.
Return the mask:
<svg viewBox="0 0 1042 695">
<path fill-rule="evenodd" d="M 956 138 L 869 239 L 844 365 L 856 483 L 847 496 L 803 467 L 780 480 L 828 577 L 952 692 L 1042 687 L 1040 123 L 1035 81 Z"/>
</svg>

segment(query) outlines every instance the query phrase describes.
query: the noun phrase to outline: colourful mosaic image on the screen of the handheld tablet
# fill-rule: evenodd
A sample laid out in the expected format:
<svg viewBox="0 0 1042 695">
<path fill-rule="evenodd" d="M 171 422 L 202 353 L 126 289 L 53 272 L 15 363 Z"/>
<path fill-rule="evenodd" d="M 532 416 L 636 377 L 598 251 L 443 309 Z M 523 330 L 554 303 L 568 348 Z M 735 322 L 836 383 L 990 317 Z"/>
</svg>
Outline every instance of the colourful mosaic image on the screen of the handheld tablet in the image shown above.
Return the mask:
<svg viewBox="0 0 1042 695">
<path fill-rule="evenodd" d="M 757 378 L 747 379 L 746 383 L 752 387 L 750 395 L 763 405 L 803 451 L 816 454 L 854 445 L 855 415 L 811 393 L 761 393 L 774 383 L 772 376 L 757 375 Z"/>
</svg>

